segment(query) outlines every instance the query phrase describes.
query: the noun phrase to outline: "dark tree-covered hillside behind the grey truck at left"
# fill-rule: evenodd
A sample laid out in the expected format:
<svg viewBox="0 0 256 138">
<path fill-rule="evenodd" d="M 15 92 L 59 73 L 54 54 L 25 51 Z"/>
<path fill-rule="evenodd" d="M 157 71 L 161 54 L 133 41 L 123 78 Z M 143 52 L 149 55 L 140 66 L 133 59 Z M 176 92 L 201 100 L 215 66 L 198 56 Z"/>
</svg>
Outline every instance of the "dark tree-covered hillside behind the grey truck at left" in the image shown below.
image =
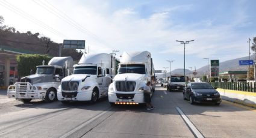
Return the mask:
<svg viewBox="0 0 256 138">
<path fill-rule="evenodd" d="M 49 56 L 58 56 L 59 44 L 52 41 L 51 38 L 42 36 L 39 32 L 34 34 L 30 31 L 20 33 L 13 27 L 3 25 L 3 21 L 3 17 L 0 16 L 0 46 L 27 50 Z M 75 61 L 80 59 L 82 54 L 75 49 L 61 50 L 61 56 L 72 56 Z"/>
</svg>

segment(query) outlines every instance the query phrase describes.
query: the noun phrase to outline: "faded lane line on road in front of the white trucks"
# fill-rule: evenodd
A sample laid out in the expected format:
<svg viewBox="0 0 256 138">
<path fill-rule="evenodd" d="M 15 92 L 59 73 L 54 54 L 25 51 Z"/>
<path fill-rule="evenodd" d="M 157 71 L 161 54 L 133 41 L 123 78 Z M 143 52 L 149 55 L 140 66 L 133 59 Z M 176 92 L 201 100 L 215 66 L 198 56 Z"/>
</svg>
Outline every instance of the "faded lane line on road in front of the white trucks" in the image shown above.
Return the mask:
<svg viewBox="0 0 256 138">
<path fill-rule="evenodd" d="M 73 130 L 70 130 L 69 132 L 67 132 L 66 134 L 64 134 L 63 136 L 61 136 L 60 138 L 66 138 L 68 136 L 70 136 L 71 134 L 75 133 L 76 131 L 80 130 L 81 128 L 85 127 L 86 125 L 90 124 L 91 122 L 95 121 L 96 119 L 98 119 L 100 116 L 104 115 L 105 113 L 107 113 L 108 111 L 110 111 L 112 108 L 105 110 L 104 112 L 99 113 L 98 115 L 94 116 L 93 118 L 87 120 L 86 122 L 84 122 L 81 125 L 78 125 L 78 127 L 73 128 Z"/>
</svg>

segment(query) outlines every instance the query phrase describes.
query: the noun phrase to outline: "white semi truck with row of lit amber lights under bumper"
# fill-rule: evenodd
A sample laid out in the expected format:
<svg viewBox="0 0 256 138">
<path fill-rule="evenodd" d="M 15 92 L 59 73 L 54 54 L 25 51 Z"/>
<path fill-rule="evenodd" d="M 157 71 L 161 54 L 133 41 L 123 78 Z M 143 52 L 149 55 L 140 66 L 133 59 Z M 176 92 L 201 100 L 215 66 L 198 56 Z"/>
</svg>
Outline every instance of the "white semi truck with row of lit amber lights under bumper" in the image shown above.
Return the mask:
<svg viewBox="0 0 256 138">
<path fill-rule="evenodd" d="M 152 96 L 155 90 L 154 72 L 150 52 L 123 52 L 117 74 L 108 88 L 109 103 L 111 105 L 145 103 L 143 86 L 151 81 Z"/>
</svg>

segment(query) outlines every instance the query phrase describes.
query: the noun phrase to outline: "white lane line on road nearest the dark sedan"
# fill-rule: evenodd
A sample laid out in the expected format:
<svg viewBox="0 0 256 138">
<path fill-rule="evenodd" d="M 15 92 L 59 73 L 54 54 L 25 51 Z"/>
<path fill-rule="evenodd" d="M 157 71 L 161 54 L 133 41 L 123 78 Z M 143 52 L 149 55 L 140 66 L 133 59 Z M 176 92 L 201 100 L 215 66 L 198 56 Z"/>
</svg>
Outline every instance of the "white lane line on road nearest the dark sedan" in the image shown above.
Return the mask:
<svg viewBox="0 0 256 138">
<path fill-rule="evenodd" d="M 203 138 L 204 136 L 202 136 L 202 134 L 198 131 L 198 129 L 195 127 L 195 125 L 192 124 L 192 122 L 189 120 L 189 118 L 187 118 L 187 116 L 183 113 L 183 111 L 179 107 L 176 107 L 176 110 L 178 110 L 178 112 L 180 113 L 181 117 L 184 119 L 186 124 L 189 125 L 190 130 L 193 131 L 195 136 Z"/>
</svg>

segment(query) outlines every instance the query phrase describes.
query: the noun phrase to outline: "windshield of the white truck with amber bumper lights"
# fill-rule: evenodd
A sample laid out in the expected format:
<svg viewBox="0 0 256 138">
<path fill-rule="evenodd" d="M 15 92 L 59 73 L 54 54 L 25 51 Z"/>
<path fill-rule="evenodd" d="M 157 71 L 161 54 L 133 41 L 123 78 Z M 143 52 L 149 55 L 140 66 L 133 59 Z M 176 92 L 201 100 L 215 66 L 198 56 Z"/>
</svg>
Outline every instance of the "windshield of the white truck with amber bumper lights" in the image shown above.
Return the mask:
<svg viewBox="0 0 256 138">
<path fill-rule="evenodd" d="M 146 74 L 145 65 L 142 64 L 121 64 L 118 68 L 117 74 L 123 73 L 137 73 L 137 74 Z"/>
</svg>

